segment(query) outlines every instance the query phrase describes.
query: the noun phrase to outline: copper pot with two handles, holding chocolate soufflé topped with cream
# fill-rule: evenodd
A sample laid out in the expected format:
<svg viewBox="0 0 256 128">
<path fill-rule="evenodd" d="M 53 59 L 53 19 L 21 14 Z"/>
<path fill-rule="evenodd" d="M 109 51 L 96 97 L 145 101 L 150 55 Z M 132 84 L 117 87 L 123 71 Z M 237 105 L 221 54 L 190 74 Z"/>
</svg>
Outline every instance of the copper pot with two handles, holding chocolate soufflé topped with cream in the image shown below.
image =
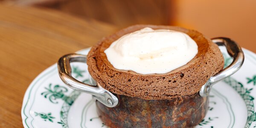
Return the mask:
<svg viewBox="0 0 256 128">
<path fill-rule="evenodd" d="M 233 57 L 224 69 L 222 45 Z M 100 119 L 111 128 L 189 128 L 206 115 L 212 85 L 243 61 L 241 47 L 229 38 L 135 25 L 103 38 L 87 56 L 64 55 L 58 71 L 67 86 L 93 95 Z M 71 62 L 87 62 L 90 84 L 71 76 Z"/>
</svg>

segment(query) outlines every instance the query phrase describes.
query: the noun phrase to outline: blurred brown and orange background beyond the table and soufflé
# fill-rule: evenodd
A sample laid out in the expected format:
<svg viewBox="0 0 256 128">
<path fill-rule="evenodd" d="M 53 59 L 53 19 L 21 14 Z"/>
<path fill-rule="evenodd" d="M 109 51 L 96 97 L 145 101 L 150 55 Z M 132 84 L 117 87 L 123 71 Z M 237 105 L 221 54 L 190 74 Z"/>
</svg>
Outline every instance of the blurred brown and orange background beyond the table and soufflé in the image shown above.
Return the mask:
<svg viewBox="0 0 256 128">
<path fill-rule="evenodd" d="M 0 0 L 8 6 L 54 9 L 117 29 L 164 24 L 196 29 L 208 38 L 225 36 L 256 52 L 256 0 Z M 256 45 L 253 45 L 256 46 Z"/>
</svg>

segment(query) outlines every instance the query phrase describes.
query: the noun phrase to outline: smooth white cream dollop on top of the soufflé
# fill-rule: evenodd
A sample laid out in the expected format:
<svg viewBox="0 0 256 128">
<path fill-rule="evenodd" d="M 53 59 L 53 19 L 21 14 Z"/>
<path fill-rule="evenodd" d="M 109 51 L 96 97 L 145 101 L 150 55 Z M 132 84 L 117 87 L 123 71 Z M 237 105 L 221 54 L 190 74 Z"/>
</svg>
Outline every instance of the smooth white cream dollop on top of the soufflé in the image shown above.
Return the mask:
<svg viewBox="0 0 256 128">
<path fill-rule="evenodd" d="M 187 64 L 198 46 L 186 33 L 146 27 L 123 35 L 104 52 L 116 69 L 163 74 Z"/>
</svg>

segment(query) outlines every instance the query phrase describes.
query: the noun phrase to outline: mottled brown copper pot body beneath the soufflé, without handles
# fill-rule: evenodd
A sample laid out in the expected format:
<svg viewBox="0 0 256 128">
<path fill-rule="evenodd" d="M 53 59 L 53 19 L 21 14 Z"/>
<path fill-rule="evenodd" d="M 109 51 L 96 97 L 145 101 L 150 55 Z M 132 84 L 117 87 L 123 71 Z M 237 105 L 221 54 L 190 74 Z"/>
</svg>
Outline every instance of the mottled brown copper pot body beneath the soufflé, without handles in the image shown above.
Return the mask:
<svg viewBox="0 0 256 128">
<path fill-rule="evenodd" d="M 198 93 L 183 101 L 117 97 L 115 108 L 96 101 L 99 117 L 110 128 L 192 128 L 204 118 L 209 104 L 208 97 Z"/>
</svg>

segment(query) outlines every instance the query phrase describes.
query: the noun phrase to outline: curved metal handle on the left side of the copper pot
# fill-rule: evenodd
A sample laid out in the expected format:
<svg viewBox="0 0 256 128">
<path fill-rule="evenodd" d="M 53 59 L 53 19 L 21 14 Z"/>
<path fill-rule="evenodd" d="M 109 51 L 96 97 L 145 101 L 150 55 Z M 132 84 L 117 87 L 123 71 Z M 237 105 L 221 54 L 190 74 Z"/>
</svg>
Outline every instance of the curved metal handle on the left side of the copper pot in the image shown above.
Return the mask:
<svg viewBox="0 0 256 128">
<path fill-rule="evenodd" d="M 74 90 L 78 90 L 81 92 L 89 93 L 93 95 L 93 98 L 97 99 L 102 104 L 106 105 L 107 107 L 113 108 L 118 104 L 118 98 L 105 90 L 103 87 L 99 85 L 89 85 L 82 83 L 71 76 L 71 62 L 83 62 L 86 63 L 87 55 L 80 55 L 80 54 L 68 54 L 62 56 L 58 60 L 58 73 L 61 80 L 70 88 Z M 94 81 L 94 80 L 93 80 Z"/>
</svg>

